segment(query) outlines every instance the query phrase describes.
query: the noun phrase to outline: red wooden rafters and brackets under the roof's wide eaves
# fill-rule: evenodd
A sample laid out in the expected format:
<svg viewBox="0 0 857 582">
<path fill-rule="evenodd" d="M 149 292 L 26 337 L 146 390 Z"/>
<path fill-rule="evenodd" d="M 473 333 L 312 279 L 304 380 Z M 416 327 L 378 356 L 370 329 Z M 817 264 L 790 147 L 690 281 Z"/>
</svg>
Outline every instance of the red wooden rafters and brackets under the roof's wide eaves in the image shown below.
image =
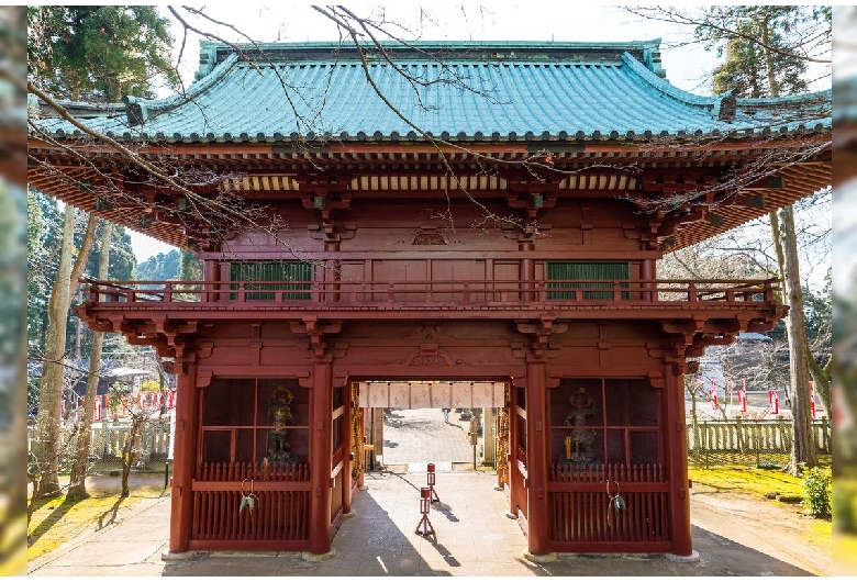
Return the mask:
<svg viewBox="0 0 857 582">
<path fill-rule="evenodd" d="M 301 149 L 278 144 L 149 143 L 136 148 L 147 161 L 178 167 L 204 168 L 212 176 L 200 195 L 232 191 L 248 201 L 299 200 L 304 208 L 336 210 L 354 197 L 401 198 L 419 195 L 460 197 L 464 191 L 480 198 L 505 199 L 523 208 L 527 217 L 550 208 L 560 197 L 623 198 L 637 203 L 647 225 L 641 237 L 648 248 L 675 250 L 699 243 L 726 230 L 761 216 L 770 209 L 790 204 L 831 182 L 832 165 L 826 134 L 770 138 L 765 142 L 710 144 L 685 142 L 664 144 L 622 143 L 464 143 L 474 153 L 433 148 L 425 144 L 335 143 Z M 799 165 L 772 171 L 779 182 L 750 181 L 741 188 L 722 188 L 727 176 L 748 160 L 782 147 L 815 145 L 820 152 Z M 35 188 L 88 212 L 142 232 L 170 245 L 191 248 L 212 237 L 207 220 L 181 213 L 179 194 L 142 186 L 125 171 L 125 201 L 118 206 L 97 208 L 81 182 L 97 177 L 94 168 L 112 171 L 120 154 L 105 147 L 62 143 L 88 159 L 87 167 L 67 149 L 32 138 L 29 153 L 30 181 Z M 446 155 L 444 161 L 442 153 Z M 40 166 L 36 160 L 44 160 Z M 527 168 L 522 163 L 532 165 Z M 122 164 L 126 165 L 123 158 Z M 48 171 L 47 165 L 56 171 Z M 447 166 L 448 165 L 448 166 Z M 453 168 L 455 176 L 448 174 Z M 130 192 L 130 194 L 129 194 Z M 130 212 L 133 195 L 143 195 L 149 211 Z M 156 198 L 153 198 L 156 197 Z M 350 197 L 350 198 L 348 198 Z M 116 197 L 121 198 L 121 197 Z M 660 205 L 658 212 L 645 206 Z M 151 210 L 153 206 L 158 212 Z M 323 222 L 330 223 L 331 216 Z M 325 226 L 330 230 L 331 226 Z"/>
</svg>

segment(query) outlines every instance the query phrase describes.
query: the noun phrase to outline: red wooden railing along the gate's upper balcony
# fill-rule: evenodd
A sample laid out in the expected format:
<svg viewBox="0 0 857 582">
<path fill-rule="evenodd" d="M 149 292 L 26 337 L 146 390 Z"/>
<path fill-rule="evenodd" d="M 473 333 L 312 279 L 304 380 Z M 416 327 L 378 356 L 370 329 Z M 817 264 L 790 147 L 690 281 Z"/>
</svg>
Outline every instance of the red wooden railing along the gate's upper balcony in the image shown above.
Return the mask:
<svg viewBox="0 0 857 582">
<path fill-rule="evenodd" d="M 90 306 L 152 310 L 472 310 L 770 306 L 768 280 L 94 281 Z"/>
</svg>

